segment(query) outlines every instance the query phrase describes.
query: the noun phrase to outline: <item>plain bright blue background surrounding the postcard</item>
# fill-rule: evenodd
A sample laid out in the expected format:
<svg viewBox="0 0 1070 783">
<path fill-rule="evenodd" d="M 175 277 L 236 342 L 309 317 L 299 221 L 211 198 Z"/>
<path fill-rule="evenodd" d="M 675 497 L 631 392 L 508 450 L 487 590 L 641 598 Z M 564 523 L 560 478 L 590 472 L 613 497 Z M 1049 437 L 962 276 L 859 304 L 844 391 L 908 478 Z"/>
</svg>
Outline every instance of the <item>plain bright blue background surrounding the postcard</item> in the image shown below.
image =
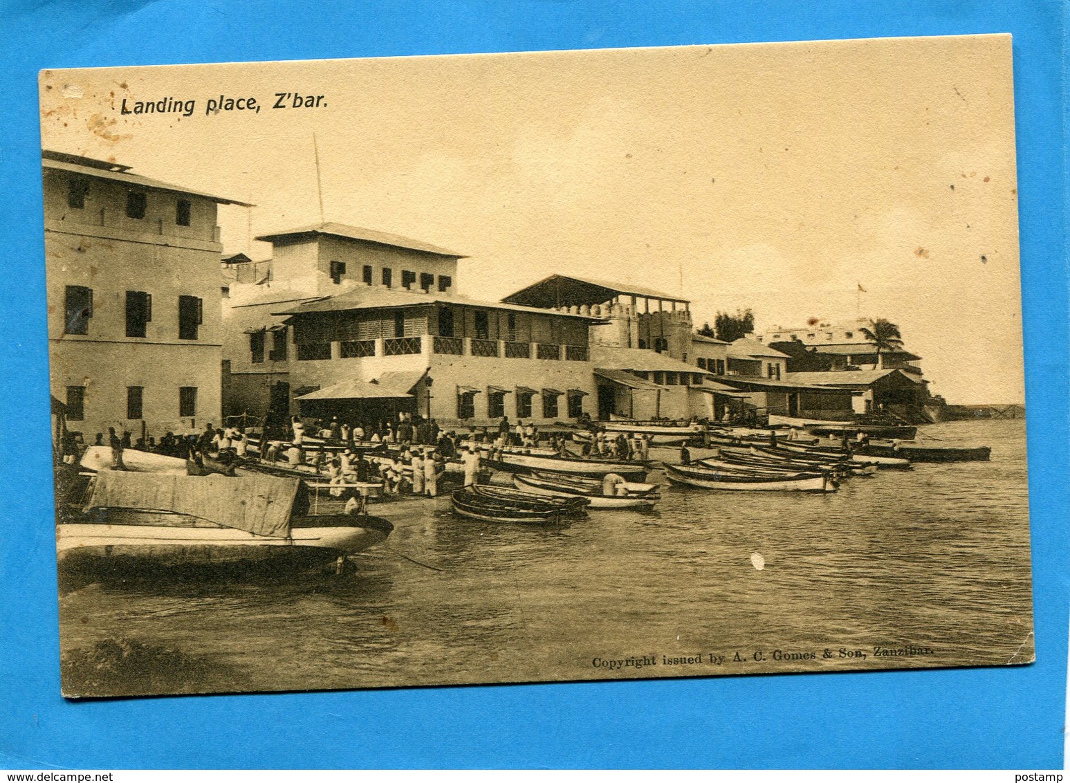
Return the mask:
<svg viewBox="0 0 1070 783">
<path fill-rule="evenodd" d="M 1061 3 L 41 5 L 0 2 L 0 252 L 7 281 L 0 294 L 0 766 L 1063 766 L 1070 395 Z M 1036 664 L 95 703 L 60 697 L 40 68 L 984 32 L 1014 35 Z"/>
</svg>

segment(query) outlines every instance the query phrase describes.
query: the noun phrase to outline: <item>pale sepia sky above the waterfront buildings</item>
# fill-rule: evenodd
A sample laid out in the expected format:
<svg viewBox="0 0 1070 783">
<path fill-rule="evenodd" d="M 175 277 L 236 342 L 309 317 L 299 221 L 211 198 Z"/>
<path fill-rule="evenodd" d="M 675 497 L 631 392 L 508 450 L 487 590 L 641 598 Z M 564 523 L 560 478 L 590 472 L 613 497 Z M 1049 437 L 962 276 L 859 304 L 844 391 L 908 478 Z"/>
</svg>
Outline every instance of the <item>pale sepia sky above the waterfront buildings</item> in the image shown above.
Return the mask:
<svg viewBox="0 0 1070 783">
<path fill-rule="evenodd" d="M 458 293 L 489 301 L 562 273 L 683 295 L 697 327 L 740 308 L 759 332 L 887 318 L 933 394 L 1024 400 L 1009 36 L 91 68 L 41 83 L 45 148 L 255 203 L 220 206 L 225 252 L 270 258 L 254 236 L 322 217 L 463 254 Z M 287 108 L 272 108 L 277 93 Z M 323 97 L 294 108 L 294 94 Z M 220 95 L 260 110 L 209 113 Z M 123 99 L 165 97 L 193 113 L 122 113 Z"/>
</svg>

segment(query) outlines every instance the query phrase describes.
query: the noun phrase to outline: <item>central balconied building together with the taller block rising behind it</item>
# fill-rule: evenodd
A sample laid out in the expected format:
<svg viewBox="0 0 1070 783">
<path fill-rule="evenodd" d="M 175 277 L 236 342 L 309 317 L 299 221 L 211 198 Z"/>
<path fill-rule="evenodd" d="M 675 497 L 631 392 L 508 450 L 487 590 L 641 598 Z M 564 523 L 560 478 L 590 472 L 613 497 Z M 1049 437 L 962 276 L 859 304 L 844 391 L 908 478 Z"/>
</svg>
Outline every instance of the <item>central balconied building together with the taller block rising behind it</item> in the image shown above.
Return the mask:
<svg viewBox="0 0 1070 783">
<path fill-rule="evenodd" d="M 225 303 L 229 415 L 476 427 L 585 412 L 601 319 L 458 296 L 463 256 L 394 234 L 324 224 L 259 239 L 270 270 Z"/>
</svg>

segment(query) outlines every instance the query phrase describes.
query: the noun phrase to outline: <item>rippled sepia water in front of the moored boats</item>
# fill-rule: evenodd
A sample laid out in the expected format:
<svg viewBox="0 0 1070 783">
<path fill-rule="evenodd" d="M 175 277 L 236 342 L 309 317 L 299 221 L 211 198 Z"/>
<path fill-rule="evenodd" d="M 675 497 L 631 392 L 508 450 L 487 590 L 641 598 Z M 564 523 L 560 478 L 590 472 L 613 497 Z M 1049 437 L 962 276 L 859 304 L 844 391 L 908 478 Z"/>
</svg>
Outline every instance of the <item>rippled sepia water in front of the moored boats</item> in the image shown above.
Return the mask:
<svg viewBox="0 0 1070 783">
<path fill-rule="evenodd" d="M 657 512 L 595 511 L 556 531 L 429 510 L 394 520 L 356 575 L 90 584 L 61 595 L 67 691 L 1027 662 L 1025 424 L 951 423 L 922 436 L 991 445 L 992 461 L 882 471 L 828 496 L 666 485 Z M 922 654 L 873 656 L 906 645 Z M 656 665 L 600 665 L 644 656 Z"/>
</svg>

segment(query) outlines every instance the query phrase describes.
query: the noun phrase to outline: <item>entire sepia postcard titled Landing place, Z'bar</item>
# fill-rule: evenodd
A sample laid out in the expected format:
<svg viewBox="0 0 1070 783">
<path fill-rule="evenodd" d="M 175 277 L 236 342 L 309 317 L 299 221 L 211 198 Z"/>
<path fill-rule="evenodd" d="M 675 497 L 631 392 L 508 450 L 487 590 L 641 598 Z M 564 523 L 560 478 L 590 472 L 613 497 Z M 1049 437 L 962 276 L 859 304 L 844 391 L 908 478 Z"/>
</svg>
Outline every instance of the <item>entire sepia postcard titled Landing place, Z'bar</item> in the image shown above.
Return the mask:
<svg viewBox="0 0 1070 783">
<path fill-rule="evenodd" d="M 64 694 L 1031 662 L 1011 61 L 42 72 Z"/>
</svg>

